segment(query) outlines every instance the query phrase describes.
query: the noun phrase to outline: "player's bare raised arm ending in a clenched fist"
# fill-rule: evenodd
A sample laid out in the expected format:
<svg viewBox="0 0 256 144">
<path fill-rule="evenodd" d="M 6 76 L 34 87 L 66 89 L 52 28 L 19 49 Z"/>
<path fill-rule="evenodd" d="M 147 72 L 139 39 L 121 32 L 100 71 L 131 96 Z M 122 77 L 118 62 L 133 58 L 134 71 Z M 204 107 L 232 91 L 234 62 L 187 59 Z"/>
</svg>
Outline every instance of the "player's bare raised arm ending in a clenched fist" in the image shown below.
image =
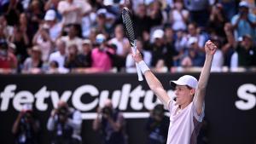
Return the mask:
<svg viewBox="0 0 256 144">
<path fill-rule="evenodd" d="M 212 66 L 212 59 L 216 49 L 217 49 L 216 45 L 209 40 L 205 44 L 206 60 L 201 71 L 198 86 L 197 86 L 197 89 L 195 90 L 195 97 L 193 100 L 195 103 L 195 108 L 198 115 L 200 115 L 202 111 L 203 102 L 205 100 L 205 95 L 207 90 L 207 83 L 208 83 L 211 66 Z"/>
</svg>

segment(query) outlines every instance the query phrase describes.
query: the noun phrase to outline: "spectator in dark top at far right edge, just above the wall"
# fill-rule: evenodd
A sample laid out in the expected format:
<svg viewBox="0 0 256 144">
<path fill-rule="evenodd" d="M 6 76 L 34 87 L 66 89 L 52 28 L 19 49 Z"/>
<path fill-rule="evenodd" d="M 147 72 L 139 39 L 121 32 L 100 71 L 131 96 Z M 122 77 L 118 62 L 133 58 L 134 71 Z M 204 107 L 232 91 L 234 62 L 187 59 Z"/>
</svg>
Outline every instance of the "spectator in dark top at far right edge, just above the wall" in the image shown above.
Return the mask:
<svg viewBox="0 0 256 144">
<path fill-rule="evenodd" d="M 238 66 L 256 66 L 256 48 L 250 35 L 242 37 L 241 44 L 238 44 L 236 53 L 233 55 L 237 55 Z"/>
</svg>

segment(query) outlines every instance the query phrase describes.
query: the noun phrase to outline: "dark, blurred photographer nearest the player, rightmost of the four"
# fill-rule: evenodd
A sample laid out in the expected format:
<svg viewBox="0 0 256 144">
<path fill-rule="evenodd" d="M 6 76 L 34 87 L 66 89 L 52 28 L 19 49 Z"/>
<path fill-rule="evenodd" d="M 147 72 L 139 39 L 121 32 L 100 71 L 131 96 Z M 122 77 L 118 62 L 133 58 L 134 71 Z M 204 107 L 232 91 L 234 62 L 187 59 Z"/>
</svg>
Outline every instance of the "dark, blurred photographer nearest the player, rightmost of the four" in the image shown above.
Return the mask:
<svg viewBox="0 0 256 144">
<path fill-rule="evenodd" d="M 165 116 L 163 105 L 156 105 L 146 124 L 147 144 L 166 144 L 169 118 Z"/>
</svg>

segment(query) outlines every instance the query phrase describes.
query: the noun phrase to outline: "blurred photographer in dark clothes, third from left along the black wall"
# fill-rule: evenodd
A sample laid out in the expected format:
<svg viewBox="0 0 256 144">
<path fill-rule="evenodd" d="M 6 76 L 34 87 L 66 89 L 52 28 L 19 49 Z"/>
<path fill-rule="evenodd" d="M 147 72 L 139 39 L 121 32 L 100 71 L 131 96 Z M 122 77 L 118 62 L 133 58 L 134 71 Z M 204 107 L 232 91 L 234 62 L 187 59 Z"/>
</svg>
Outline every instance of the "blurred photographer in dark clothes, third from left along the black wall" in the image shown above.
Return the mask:
<svg viewBox="0 0 256 144">
<path fill-rule="evenodd" d="M 97 110 L 97 117 L 93 121 L 93 130 L 101 130 L 102 144 L 126 144 L 125 118 L 123 114 L 113 109 L 108 99 L 104 107 Z"/>
</svg>

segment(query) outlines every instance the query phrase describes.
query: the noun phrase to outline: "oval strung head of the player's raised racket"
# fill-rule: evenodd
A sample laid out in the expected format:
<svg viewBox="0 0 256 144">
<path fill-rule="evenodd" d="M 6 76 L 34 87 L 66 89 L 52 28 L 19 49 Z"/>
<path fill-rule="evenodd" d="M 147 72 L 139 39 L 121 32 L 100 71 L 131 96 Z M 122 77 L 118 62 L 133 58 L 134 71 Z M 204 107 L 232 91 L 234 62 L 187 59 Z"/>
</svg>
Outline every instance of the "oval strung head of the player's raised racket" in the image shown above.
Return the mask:
<svg viewBox="0 0 256 144">
<path fill-rule="evenodd" d="M 128 38 L 129 43 L 131 44 L 131 47 L 134 47 L 135 46 L 134 25 L 131 20 L 131 11 L 126 7 L 122 9 L 122 20 L 123 20 L 126 37 Z"/>
</svg>

